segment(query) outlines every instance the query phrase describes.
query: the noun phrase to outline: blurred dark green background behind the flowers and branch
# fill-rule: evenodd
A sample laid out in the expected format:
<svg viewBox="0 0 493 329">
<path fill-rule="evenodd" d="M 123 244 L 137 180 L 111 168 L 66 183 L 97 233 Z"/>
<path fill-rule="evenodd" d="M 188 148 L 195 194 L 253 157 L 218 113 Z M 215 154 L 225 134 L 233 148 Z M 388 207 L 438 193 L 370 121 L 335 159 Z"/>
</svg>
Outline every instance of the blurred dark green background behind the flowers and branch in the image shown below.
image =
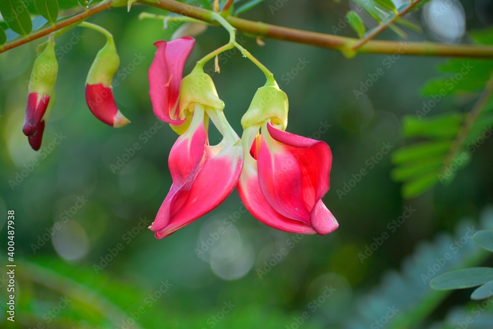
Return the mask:
<svg viewBox="0 0 493 329">
<path fill-rule="evenodd" d="M 437 14 L 444 5 L 449 9 Z M 342 24 L 350 8 L 348 1 L 266 0 L 242 17 L 354 37 Z M 38 152 L 22 124 L 39 42 L 0 54 L 0 250 L 4 255 L 6 213 L 13 209 L 18 263 L 16 322 L 2 310 L 1 328 L 455 328 L 463 321 L 450 310 L 467 302 L 468 292 L 432 292 L 423 275 L 472 259 L 491 263 L 467 232 L 493 221 L 493 144 L 478 147 L 453 183 L 410 200 L 392 181 L 384 153 L 404 144 L 400 119 L 423 109 L 429 98 L 420 89 L 440 75 L 444 58 L 348 60 L 278 40 L 259 46 L 239 33 L 288 95 L 287 131 L 330 145 L 331 189 L 323 201 L 340 227 L 327 236 L 271 229 L 245 211 L 234 190 L 210 214 L 157 240 L 147 226 L 172 183 L 167 160 L 177 135 L 152 113 L 147 70 L 153 42 L 174 31 L 139 21 L 144 10 L 163 13 L 135 6 L 88 19 L 115 37 L 121 65 L 114 94 L 132 122 L 124 128 L 101 123 L 85 103 L 87 71 L 105 42 L 98 33 L 74 28 L 57 38 L 57 100 Z M 407 16 L 423 27 L 409 31 L 408 40 L 471 43 L 469 32 L 488 28 L 492 17 L 490 0 L 433 0 Z M 401 39 L 391 31 L 382 38 Z M 185 73 L 228 35 L 209 27 L 196 39 Z M 212 78 L 241 135 L 240 119 L 264 77 L 234 50 L 221 54 L 219 65 Z M 355 92 L 379 69 L 377 81 Z M 473 103 L 444 97 L 430 114 L 470 110 Z M 218 141 L 211 137 L 211 144 Z M 452 260 L 440 265 L 447 251 Z M 7 300 L 4 273 L 0 308 Z M 469 328 L 492 324 L 483 307 Z M 437 327 L 447 321 L 451 327 Z"/>
</svg>

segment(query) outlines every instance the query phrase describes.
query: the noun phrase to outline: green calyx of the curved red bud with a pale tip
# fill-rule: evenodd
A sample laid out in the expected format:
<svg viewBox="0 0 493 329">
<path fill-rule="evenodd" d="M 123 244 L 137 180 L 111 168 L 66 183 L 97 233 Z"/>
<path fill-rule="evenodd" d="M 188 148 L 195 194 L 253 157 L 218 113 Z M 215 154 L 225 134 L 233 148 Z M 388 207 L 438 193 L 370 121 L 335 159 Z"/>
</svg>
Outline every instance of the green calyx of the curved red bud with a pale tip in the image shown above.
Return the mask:
<svg viewBox="0 0 493 329">
<path fill-rule="evenodd" d="M 108 37 L 106 44 L 96 55 L 91 69 L 87 74 L 86 84 L 99 84 L 111 86 L 111 80 L 120 66 L 120 57 L 116 52 L 113 37 Z"/>
</svg>

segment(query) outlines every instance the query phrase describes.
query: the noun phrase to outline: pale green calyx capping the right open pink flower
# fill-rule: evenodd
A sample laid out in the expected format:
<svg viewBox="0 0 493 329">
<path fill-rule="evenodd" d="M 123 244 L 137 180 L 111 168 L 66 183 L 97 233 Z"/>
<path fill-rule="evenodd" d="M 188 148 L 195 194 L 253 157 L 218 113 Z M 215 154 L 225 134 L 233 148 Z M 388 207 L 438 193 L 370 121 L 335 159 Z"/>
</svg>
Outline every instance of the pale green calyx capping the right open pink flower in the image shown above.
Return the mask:
<svg viewBox="0 0 493 329">
<path fill-rule="evenodd" d="M 251 100 L 250 107 L 242 117 L 243 129 L 270 120 L 273 124 L 287 127 L 287 95 L 277 85 L 263 86 Z"/>
</svg>

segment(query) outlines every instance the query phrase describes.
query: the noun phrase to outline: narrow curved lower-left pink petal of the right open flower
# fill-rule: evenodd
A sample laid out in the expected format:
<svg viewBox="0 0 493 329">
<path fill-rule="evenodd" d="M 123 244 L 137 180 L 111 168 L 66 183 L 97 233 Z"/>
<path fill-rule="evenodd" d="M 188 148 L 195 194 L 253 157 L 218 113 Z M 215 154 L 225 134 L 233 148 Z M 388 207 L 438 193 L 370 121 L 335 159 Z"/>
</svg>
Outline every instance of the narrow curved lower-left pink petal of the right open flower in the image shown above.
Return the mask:
<svg viewBox="0 0 493 329">
<path fill-rule="evenodd" d="M 311 226 L 299 220 L 288 219 L 278 213 L 264 197 L 257 174 L 257 163 L 246 157 L 240 181 L 237 185 L 246 209 L 258 220 L 276 229 L 301 234 L 316 234 Z"/>
</svg>

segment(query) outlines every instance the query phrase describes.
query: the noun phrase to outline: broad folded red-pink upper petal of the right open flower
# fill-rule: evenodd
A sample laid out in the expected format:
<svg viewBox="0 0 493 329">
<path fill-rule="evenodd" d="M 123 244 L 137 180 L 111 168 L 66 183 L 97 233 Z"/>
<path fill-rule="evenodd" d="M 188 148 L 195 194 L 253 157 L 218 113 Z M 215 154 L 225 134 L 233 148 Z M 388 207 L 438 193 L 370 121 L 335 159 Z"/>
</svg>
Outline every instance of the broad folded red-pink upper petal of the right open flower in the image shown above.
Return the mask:
<svg viewBox="0 0 493 329">
<path fill-rule="evenodd" d="M 270 123 L 262 132 L 258 154 L 262 192 L 283 216 L 310 224 L 313 207 L 329 189 L 329 146 L 286 133 Z"/>
</svg>

